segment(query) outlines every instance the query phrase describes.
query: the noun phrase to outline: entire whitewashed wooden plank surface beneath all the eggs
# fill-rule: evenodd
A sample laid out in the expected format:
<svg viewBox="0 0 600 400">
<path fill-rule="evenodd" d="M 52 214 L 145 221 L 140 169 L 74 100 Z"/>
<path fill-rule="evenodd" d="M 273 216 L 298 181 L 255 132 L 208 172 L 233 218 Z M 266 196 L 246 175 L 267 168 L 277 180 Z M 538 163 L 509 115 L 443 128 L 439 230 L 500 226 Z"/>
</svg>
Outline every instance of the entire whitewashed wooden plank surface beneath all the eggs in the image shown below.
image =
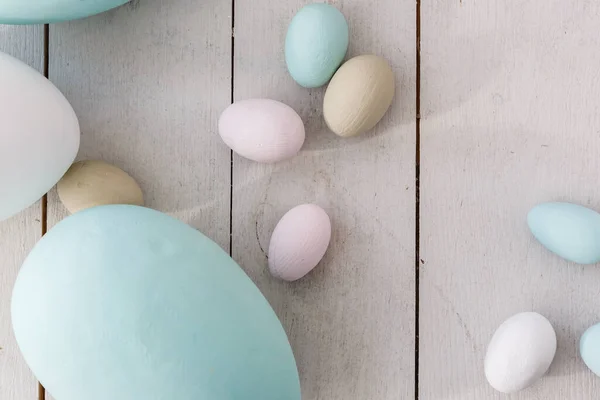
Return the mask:
<svg viewBox="0 0 600 400">
<path fill-rule="evenodd" d="M 349 55 L 382 55 L 396 73 L 373 133 L 328 132 L 323 89 L 289 77 L 285 31 L 306 1 L 236 0 L 232 13 L 229 0 L 143 0 L 50 27 L 49 76 L 79 116 L 78 158 L 123 168 L 148 206 L 231 250 L 290 336 L 303 400 L 415 399 L 417 368 L 421 400 L 597 398 L 578 341 L 598 322 L 600 270 L 549 254 L 525 219 L 544 201 L 600 210 L 600 4 L 423 2 L 418 172 L 417 4 L 330 2 L 350 22 Z M 43 29 L 0 26 L 0 49 L 41 69 Z M 232 159 L 216 129 L 232 97 L 291 105 L 306 125 L 301 153 L 275 165 Z M 270 234 L 306 202 L 329 212 L 331 246 L 313 273 L 282 283 L 266 268 Z M 0 223 L 2 400 L 37 398 L 9 299 L 40 210 Z M 65 215 L 51 192 L 48 226 Z M 556 328 L 555 362 L 532 388 L 501 396 L 483 375 L 487 343 L 530 310 Z"/>
</svg>

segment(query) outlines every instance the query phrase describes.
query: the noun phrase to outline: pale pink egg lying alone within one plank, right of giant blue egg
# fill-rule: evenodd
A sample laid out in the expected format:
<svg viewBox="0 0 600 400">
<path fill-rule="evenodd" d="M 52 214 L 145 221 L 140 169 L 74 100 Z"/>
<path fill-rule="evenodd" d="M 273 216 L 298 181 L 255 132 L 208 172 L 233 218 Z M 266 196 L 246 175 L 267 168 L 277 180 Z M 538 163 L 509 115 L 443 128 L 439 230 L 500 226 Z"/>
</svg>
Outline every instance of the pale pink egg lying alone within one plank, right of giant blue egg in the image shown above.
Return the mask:
<svg viewBox="0 0 600 400">
<path fill-rule="evenodd" d="M 315 204 L 292 208 L 277 223 L 269 244 L 269 270 L 280 279 L 295 281 L 321 261 L 331 239 L 331 221 Z"/>
</svg>

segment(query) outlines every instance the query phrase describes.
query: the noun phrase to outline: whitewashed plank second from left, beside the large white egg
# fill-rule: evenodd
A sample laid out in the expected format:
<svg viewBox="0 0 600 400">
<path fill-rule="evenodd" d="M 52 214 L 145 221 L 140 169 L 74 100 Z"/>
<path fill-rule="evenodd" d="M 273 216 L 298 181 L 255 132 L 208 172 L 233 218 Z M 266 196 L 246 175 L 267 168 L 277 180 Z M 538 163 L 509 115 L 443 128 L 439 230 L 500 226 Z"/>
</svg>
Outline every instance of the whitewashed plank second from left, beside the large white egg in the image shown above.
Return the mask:
<svg viewBox="0 0 600 400">
<path fill-rule="evenodd" d="M 226 250 L 231 163 L 216 128 L 231 96 L 230 14 L 227 1 L 135 1 L 50 27 L 50 79 L 79 117 L 78 159 L 124 169 L 147 206 Z M 49 227 L 66 215 L 53 192 Z"/>
</svg>

